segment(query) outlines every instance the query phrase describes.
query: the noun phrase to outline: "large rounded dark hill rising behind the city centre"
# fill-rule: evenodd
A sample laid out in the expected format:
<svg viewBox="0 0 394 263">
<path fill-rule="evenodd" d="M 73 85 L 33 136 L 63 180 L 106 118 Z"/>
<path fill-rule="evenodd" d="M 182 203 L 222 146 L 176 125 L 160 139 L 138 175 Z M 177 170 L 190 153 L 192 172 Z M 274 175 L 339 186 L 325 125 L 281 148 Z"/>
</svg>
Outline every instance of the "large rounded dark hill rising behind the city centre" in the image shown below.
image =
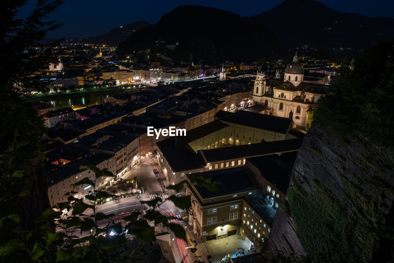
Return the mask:
<svg viewBox="0 0 394 263">
<path fill-rule="evenodd" d="M 159 40 L 165 43 L 156 45 Z M 165 45 L 176 48 L 171 51 Z M 118 45 L 116 55 L 123 58 L 132 54 L 137 61 L 154 61 L 165 54 L 175 61 L 252 62 L 275 59 L 280 46 L 268 28 L 243 21 L 239 15 L 210 7 L 180 6 L 163 15 L 156 24 L 130 35 Z"/>
</svg>

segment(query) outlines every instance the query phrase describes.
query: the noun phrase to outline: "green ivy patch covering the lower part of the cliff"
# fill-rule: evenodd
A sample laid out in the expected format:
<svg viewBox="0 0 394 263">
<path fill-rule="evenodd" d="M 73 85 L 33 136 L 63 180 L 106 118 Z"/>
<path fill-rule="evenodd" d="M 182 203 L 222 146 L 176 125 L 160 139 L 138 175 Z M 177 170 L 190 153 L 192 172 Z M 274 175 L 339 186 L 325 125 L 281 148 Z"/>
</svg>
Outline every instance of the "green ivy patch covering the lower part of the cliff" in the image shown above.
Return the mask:
<svg viewBox="0 0 394 263">
<path fill-rule="evenodd" d="M 342 204 L 319 194 L 303 196 L 290 187 L 288 200 L 292 218 L 297 226 L 297 237 L 309 254 L 324 255 L 323 262 L 361 262 L 355 253 L 353 224 Z"/>
</svg>

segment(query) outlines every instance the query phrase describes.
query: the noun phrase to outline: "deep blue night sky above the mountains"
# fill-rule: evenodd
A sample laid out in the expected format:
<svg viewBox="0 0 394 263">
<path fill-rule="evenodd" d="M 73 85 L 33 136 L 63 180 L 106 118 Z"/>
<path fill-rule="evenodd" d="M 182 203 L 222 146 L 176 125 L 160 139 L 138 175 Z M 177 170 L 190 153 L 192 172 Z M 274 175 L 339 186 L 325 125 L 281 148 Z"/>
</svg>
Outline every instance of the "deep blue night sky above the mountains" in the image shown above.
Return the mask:
<svg viewBox="0 0 394 263">
<path fill-rule="evenodd" d="M 47 37 L 91 37 L 104 34 L 115 27 L 145 20 L 156 23 L 162 15 L 181 5 L 199 5 L 224 9 L 249 17 L 268 11 L 284 0 L 258 1 L 103 1 L 103 0 L 66 0 L 50 17 L 63 22 L 59 30 L 50 32 Z M 393 0 L 320 0 L 332 9 L 343 13 L 359 13 L 367 17 L 394 17 Z M 20 16 L 29 15 L 36 1 L 29 1 L 20 11 Z M 204 17 L 191 18 L 199 21 Z"/>
</svg>

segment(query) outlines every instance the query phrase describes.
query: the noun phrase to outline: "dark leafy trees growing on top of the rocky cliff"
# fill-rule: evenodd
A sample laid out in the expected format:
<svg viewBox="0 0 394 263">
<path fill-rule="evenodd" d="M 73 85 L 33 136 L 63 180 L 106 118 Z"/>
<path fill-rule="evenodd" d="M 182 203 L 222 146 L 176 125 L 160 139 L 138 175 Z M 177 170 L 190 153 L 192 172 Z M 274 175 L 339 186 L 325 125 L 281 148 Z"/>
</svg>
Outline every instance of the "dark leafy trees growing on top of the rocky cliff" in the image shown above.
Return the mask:
<svg viewBox="0 0 394 263">
<path fill-rule="evenodd" d="M 360 56 L 346 58 L 315 110 L 316 119 L 338 136 L 362 132 L 380 145 L 394 147 L 394 47 L 381 42 Z"/>
</svg>

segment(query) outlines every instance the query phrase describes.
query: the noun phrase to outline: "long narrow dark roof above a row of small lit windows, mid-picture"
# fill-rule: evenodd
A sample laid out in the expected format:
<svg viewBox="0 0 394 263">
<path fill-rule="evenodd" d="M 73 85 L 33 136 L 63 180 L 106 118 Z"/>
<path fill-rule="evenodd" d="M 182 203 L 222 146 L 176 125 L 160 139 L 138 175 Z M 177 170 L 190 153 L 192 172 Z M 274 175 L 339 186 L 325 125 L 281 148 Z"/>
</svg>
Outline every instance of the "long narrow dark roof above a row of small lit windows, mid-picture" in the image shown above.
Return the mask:
<svg viewBox="0 0 394 263">
<path fill-rule="evenodd" d="M 301 142 L 302 139 L 298 138 L 273 142 L 260 142 L 256 144 L 202 150 L 202 154 L 208 163 L 220 160 L 271 155 L 287 151 L 298 151 L 299 147 L 301 146 Z"/>
</svg>

